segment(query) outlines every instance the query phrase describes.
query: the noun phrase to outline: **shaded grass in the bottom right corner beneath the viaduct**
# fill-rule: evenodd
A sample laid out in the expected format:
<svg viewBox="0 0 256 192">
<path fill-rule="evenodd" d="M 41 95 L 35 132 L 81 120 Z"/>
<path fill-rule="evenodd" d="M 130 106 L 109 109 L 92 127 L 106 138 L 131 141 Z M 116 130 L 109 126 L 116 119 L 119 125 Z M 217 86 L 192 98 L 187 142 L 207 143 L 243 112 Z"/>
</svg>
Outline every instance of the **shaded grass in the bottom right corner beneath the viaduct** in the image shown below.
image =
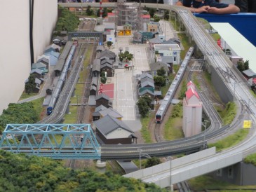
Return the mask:
<svg viewBox="0 0 256 192">
<path fill-rule="evenodd" d="M 193 179 L 189 179 L 189 186 L 191 186 L 191 190 L 193 191 L 208 191 L 208 190 L 215 189 L 215 191 L 223 191 L 223 192 L 227 190 L 234 190 L 234 191 L 243 190 L 243 191 L 249 192 L 252 190 L 246 190 L 246 189 L 255 188 L 255 186 L 237 186 L 225 181 L 213 179 L 213 177 L 210 177 L 208 175 L 203 175 L 203 176 L 195 177 Z M 221 189 L 221 190 L 218 190 L 218 189 Z"/>
</svg>

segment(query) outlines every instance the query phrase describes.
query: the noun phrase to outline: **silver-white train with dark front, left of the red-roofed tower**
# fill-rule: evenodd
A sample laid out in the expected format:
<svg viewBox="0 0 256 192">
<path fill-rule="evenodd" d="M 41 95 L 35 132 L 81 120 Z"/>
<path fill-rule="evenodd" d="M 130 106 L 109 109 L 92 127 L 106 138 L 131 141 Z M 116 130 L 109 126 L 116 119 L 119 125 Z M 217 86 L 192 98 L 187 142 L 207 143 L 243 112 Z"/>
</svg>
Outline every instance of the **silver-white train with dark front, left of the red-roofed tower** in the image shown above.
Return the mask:
<svg viewBox="0 0 256 192">
<path fill-rule="evenodd" d="M 187 65 L 189 64 L 189 60 L 191 59 L 191 56 L 194 53 L 194 47 L 190 47 L 187 55 L 185 56 L 184 60 L 182 61 L 182 64 L 180 65 L 180 69 L 177 71 L 177 74 L 173 80 L 173 82 L 170 84 L 170 88 L 166 92 L 166 96 L 163 98 L 163 101 L 160 104 L 159 109 L 156 111 L 155 116 L 155 122 L 156 123 L 162 123 L 163 117 L 166 114 L 166 111 L 170 105 L 170 102 L 173 100 L 173 97 L 175 95 L 175 92 L 180 85 L 180 81 L 182 81 L 182 77 L 184 76 L 184 73 L 187 69 Z"/>
</svg>

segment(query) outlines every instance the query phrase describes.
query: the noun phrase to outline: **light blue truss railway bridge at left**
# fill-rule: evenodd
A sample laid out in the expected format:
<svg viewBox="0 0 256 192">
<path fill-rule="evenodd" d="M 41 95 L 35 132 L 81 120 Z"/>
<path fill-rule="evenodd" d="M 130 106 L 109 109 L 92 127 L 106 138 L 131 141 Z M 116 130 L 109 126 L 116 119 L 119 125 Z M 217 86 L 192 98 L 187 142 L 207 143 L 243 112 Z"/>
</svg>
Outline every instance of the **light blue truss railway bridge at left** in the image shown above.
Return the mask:
<svg viewBox="0 0 256 192">
<path fill-rule="evenodd" d="M 0 148 L 55 159 L 100 159 L 90 124 L 8 124 Z"/>
</svg>

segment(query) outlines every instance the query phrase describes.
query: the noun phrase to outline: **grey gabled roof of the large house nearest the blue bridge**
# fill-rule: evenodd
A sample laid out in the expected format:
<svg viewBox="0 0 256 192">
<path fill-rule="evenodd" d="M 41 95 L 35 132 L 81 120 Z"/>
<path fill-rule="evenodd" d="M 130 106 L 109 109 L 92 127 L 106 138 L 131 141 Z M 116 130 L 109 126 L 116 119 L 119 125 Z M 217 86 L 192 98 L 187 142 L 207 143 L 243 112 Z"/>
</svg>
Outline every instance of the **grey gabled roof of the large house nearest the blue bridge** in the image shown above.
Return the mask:
<svg viewBox="0 0 256 192">
<path fill-rule="evenodd" d="M 124 130 L 133 133 L 133 131 L 130 130 L 130 128 L 128 128 L 128 126 L 125 123 L 123 123 L 123 121 L 120 121 L 117 118 L 113 118 L 109 115 L 100 118 L 99 120 L 94 121 L 93 123 L 97 127 L 97 130 L 99 130 L 102 133 L 102 135 L 108 135 L 110 132 L 113 132 L 118 128 L 123 128 Z"/>
</svg>

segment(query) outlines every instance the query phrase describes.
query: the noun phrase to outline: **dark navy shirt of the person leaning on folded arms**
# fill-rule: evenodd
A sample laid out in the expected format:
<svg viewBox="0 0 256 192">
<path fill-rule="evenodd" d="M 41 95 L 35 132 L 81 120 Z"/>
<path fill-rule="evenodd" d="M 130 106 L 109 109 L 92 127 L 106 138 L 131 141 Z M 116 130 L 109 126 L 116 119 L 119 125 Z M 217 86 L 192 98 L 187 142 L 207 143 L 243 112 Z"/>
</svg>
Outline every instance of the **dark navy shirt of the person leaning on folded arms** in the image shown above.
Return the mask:
<svg viewBox="0 0 256 192">
<path fill-rule="evenodd" d="M 201 6 L 210 6 L 210 7 L 216 7 L 216 8 L 226 8 L 229 6 L 229 4 L 220 4 L 217 3 L 215 0 L 204 0 L 202 2 L 198 2 L 195 0 L 181 0 L 183 6 L 186 7 L 194 7 L 199 8 Z"/>
</svg>

